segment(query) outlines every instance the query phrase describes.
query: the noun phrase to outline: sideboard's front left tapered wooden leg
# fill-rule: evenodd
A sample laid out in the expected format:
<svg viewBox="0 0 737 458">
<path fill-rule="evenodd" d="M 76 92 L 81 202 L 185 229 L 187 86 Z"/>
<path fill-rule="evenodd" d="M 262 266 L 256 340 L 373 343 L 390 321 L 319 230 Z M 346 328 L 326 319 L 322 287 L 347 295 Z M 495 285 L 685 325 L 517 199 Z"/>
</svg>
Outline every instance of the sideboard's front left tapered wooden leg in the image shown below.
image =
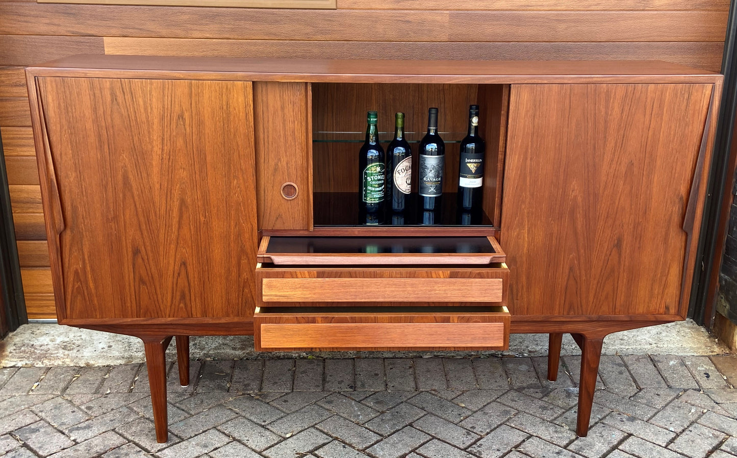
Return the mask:
<svg viewBox="0 0 737 458">
<path fill-rule="evenodd" d="M 169 417 L 167 412 L 167 362 L 166 352 L 171 337 L 163 339 L 144 339 L 148 384 L 151 387 L 153 423 L 156 426 L 156 442 L 163 444 L 169 438 Z"/>
</svg>

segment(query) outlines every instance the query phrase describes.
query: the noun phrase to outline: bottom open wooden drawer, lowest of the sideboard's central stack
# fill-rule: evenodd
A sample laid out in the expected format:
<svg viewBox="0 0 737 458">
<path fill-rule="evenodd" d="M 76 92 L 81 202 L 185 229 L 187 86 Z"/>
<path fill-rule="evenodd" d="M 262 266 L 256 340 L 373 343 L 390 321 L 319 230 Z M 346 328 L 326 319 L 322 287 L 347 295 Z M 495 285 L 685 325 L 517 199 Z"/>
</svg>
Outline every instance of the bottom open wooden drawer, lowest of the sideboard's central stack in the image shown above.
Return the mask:
<svg viewBox="0 0 737 458">
<path fill-rule="evenodd" d="M 262 307 L 256 351 L 505 350 L 509 311 L 474 307 Z"/>
</svg>

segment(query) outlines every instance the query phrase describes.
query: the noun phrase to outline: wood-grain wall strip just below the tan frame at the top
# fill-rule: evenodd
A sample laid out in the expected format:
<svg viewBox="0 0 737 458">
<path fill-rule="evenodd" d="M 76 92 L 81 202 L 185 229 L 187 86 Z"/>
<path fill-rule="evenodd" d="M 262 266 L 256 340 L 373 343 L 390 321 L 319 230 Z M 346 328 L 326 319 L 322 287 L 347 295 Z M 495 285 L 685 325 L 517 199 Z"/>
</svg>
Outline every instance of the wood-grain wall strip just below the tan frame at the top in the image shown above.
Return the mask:
<svg viewBox="0 0 737 458">
<path fill-rule="evenodd" d="M 259 10 L 0 3 L 0 34 L 307 41 L 724 41 L 723 11 Z M 166 18 L 166 20 L 163 20 Z M 213 18 L 217 18 L 216 21 Z M 407 27 L 411 18 L 411 27 Z M 135 24 L 133 26 L 133 24 Z M 371 24 L 371 27 L 361 27 Z"/>
</svg>

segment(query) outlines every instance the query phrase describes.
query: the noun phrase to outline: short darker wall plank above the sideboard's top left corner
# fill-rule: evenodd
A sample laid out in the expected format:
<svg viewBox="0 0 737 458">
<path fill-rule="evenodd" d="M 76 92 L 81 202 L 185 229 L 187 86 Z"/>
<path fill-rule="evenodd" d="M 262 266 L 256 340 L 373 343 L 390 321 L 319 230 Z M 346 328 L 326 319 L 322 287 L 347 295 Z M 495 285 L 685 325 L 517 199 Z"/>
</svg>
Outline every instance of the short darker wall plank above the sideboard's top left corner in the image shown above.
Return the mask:
<svg viewBox="0 0 737 458">
<path fill-rule="evenodd" d="M 105 54 L 102 37 L 13 35 L 18 30 L 11 29 L 9 35 L 0 34 L 0 64 L 3 66 L 37 65 L 77 54 Z"/>
</svg>

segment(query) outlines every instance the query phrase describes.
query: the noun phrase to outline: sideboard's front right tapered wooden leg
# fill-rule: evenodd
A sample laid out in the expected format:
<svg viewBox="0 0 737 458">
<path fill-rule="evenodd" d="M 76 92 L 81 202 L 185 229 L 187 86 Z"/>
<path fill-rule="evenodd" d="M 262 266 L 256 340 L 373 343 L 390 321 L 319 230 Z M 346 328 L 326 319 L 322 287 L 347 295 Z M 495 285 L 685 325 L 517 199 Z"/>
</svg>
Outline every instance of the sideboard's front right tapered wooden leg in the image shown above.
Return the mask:
<svg viewBox="0 0 737 458">
<path fill-rule="evenodd" d="M 591 338 L 578 334 L 574 336 L 581 346 L 581 378 L 579 380 L 579 417 L 576 421 L 576 434 L 586 437 L 589 434 L 591 407 L 594 402 L 596 375 L 601 359 L 601 344 L 604 337 Z"/>
</svg>

